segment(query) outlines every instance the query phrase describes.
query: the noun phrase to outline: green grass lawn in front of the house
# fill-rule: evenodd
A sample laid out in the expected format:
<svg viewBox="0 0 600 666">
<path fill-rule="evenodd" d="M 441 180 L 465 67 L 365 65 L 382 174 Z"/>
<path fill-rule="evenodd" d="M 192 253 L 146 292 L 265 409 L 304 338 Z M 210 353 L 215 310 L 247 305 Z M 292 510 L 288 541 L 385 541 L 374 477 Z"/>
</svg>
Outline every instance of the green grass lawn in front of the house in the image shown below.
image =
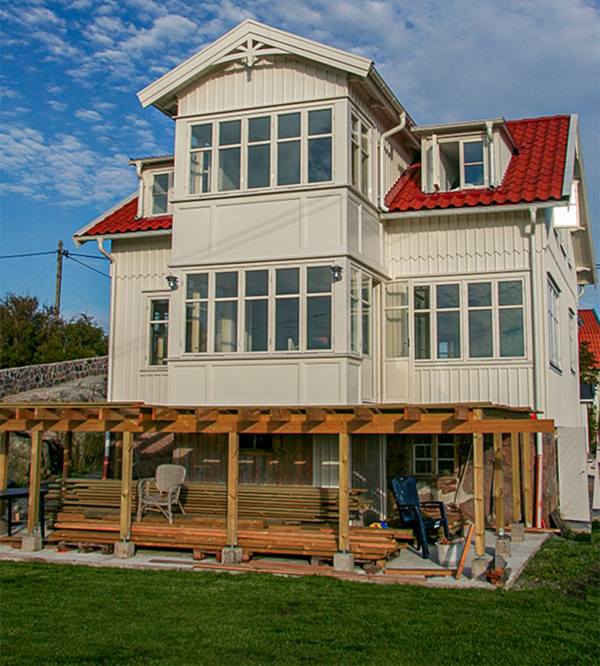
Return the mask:
<svg viewBox="0 0 600 666">
<path fill-rule="evenodd" d="M 508 592 L 2 562 L 0 662 L 596 666 L 599 542 L 552 539 Z"/>
</svg>

